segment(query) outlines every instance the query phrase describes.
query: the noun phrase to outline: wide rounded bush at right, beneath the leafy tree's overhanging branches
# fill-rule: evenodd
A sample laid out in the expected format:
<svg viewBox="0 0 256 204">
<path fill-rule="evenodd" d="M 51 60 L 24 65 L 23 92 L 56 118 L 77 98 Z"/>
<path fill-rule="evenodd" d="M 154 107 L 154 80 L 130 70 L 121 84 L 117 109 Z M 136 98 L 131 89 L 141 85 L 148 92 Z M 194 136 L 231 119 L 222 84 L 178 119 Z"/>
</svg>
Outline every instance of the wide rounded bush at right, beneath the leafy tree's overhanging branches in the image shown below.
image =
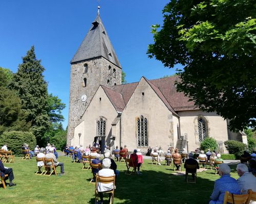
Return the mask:
<svg viewBox="0 0 256 204">
<path fill-rule="evenodd" d="M 247 149 L 246 144 L 236 140 L 227 140 L 224 142 L 224 144 L 229 151 L 229 154 L 234 154 L 236 159 L 240 159 L 240 156 L 243 155 L 244 151 Z"/>
</svg>

